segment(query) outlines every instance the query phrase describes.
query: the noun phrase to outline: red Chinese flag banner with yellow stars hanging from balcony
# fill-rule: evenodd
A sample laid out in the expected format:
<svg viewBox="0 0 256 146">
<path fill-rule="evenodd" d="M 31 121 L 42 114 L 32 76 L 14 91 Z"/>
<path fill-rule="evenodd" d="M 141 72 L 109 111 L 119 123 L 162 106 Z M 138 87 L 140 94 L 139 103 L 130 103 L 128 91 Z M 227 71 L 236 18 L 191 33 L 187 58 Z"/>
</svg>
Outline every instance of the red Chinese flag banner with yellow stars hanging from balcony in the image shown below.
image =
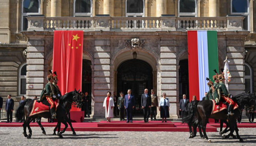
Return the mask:
<svg viewBox="0 0 256 146">
<path fill-rule="evenodd" d="M 54 31 L 52 68 L 62 95 L 82 89 L 82 62 L 83 31 Z M 71 111 L 81 109 L 72 107 Z"/>
</svg>

